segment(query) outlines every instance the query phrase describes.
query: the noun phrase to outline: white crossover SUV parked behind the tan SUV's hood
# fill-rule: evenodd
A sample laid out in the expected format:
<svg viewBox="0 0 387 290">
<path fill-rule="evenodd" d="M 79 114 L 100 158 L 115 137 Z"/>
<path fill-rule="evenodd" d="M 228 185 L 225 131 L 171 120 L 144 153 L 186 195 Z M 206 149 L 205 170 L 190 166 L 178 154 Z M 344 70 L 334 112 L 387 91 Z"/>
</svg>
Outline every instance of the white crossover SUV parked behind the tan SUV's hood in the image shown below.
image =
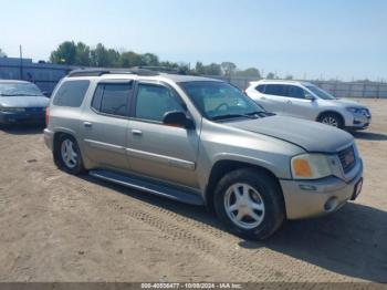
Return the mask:
<svg viewBox="0 0 387 290">
<path fill-rule="evenodd" d="M 307 82 L 251 82 L 245 93 L 269 112 L 317 121 L 347 130 L 364 130 L 370 124 L 369 110 L 351 100 L 337 99 Z"/>
</svg>

